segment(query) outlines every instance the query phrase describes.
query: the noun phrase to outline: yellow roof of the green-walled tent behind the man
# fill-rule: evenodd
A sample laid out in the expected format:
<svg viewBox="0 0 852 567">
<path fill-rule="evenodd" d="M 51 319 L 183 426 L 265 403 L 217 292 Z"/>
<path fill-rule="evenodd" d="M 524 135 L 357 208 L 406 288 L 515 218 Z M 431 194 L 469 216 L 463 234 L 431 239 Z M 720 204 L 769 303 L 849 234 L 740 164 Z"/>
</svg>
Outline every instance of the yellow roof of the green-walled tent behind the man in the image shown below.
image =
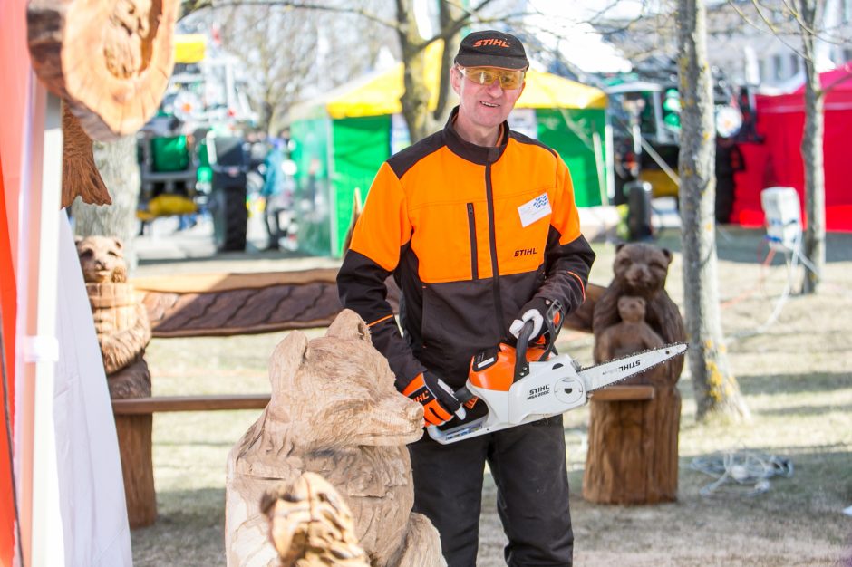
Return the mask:
<svg viewBox="0 0 852 567">
<path fill-rule="evenodd" d="M 426 49 L 426 81 L 430 85 L 430 109 L 438 103 L 442 43 Z M 402 112 L 402 63 L 367 80 L 335 89 L 325 100 L 325 109 L 333 119 L 357 116 L 382 116 Z M 548 73 L 529 70 L 527 86 L 515 108 L 528 109 L 603 109 L 606 94 L 600 89 Z"/>
</svg>

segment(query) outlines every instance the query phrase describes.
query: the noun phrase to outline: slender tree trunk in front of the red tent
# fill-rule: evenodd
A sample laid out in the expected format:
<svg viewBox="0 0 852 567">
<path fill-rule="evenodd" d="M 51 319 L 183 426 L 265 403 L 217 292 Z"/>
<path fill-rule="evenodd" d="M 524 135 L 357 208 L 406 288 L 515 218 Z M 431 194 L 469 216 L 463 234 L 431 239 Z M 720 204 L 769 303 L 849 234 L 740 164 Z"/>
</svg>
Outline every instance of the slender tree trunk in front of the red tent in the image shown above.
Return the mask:
<svg viewBox="0 0 852 567">
<path fill-rule="evenodd" d="M 802 293 L 817 293 L 822 269 L 826 264 L 826 174 L 823 169 L 823 91 L 816 70 L 814 26 L 817 22 L 817 1 L 801 0 L 803 28 L 802 52 L 805 60 L 805 131 L 802 137 L 802 159 L 805 168 L 805 229 L 803 254 L 813 266 L 806 269 Z"/>
</svg>

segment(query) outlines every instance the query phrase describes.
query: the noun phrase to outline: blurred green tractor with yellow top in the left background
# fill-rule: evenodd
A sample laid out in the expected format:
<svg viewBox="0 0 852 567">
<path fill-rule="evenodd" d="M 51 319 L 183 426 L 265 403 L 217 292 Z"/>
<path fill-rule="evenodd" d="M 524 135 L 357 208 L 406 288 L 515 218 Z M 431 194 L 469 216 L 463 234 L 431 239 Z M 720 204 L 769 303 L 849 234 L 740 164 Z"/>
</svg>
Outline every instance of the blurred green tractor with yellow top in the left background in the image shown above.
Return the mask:
<svg viewBox="0 0 852 567">
<path fill-rule="evenodd" d="M 249 159 L 237 134 L 255 120 L 237 80 L 238 61 L 177 35 L 175 72 L 158 115 L 138 134 L 142 230 L 158 216 L 213 218 L 219 251 L 244 250 Z"/>
</svg>

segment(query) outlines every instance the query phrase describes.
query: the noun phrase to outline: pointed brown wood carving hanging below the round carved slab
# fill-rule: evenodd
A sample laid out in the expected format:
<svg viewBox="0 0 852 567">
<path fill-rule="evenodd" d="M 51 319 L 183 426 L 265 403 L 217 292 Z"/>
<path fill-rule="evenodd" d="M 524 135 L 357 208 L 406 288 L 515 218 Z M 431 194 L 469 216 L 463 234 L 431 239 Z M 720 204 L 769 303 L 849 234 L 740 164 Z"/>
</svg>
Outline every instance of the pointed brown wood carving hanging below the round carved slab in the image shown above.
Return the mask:
<svg viewBox="0 0 852 567">
<path fill-rule="evenodd" d="M 63 198 L 62 207 L 71 207 L 74 198 L 83 203 L 111 205 L 112 198 L 94 163 L 92 139 L 77 117 L 63 104 Z"/>
</svg>

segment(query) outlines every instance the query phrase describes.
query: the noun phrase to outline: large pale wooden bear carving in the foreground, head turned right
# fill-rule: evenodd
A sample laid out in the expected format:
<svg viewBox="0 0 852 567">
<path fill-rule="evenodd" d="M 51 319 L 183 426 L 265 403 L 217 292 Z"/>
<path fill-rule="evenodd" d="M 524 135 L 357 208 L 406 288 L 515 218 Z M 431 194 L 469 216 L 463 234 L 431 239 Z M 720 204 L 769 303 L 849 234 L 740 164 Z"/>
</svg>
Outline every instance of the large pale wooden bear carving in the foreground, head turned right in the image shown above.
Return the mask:
<svg viewBox="0 0 852 567">
<path fill-rule="evenodd" d="M 272 354 L 269 377 L 269 405 L 228 455 L 228 565 L 276 563 L 257 503 L 304 472 L 343 495 L 374 567 L 443 564 L 438 532 L 411 513 L 405 444 L 422 435 L 422 407 L 394 388 L 361 318 L 344 310 L 310 342 L 291 332 Z"/>
</svg>

